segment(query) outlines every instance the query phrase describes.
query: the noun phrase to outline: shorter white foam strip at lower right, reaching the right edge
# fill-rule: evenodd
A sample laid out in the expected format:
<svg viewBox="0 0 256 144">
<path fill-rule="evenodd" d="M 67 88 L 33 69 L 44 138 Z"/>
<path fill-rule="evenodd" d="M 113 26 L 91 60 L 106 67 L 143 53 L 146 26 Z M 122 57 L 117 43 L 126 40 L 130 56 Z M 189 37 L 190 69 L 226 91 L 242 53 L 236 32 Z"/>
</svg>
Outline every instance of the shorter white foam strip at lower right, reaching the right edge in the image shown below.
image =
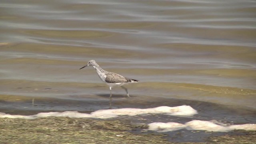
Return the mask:
<svg viewBox="0 0 256 144">
<path fill-rule="evenodd" d="M 226 125 L 226 126 L 224 126 Z M 192 120 L 185 124 L 176 122 L 153 122 L 148 124 L 148 130 L 157 132 L 168 132 L 174 130 L 180 130 L 186 128 L 187 130 L 205 130 L 208 132 L 228 132 L 231 130 L 256 130 L 256 124 L 239 124 L 239 125 L 227 125 L 227 124 L 215 124 L 210 121 Z"/>
</svg>

